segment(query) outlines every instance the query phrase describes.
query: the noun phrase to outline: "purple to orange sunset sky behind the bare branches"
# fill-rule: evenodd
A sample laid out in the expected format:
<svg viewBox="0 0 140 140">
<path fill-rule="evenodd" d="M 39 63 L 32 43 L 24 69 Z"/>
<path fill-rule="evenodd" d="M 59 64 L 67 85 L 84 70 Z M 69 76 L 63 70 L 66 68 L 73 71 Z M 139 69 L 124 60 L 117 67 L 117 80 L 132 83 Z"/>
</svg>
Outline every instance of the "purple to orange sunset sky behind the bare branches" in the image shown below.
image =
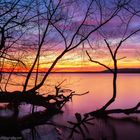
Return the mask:
<svg viewBox="0 0 140 140">
<path fill-rule="evenodd" d="M 77 0 L 76 4 L 69 4 L 67 8 L 61 7 L 59 9 L 59 12 L 61 14 L 59 14 L 58 12 L 58 15 L 55 15 L 57 18 L 60 15 L 63 15 L 63 17 L 73 16 L 70 20 L 62 20 L 55 24 L 55 26 L 60 31 L 64 31 L 63 35 L 66 37 L 66 41 L 68 44 L 70 43 L 73 34 L 81 24 L 89 3 L 90 0 L 87 1 L 87 3 Z M 81 27 L 81 30 L 78 32 L 79 34 L 86 36 L 93 28 L 96 28 L 100 24 L 99 22 L 101 19 L 101 15 L 98 13 L 98 4 L 99 3 L 93 3 L 95 7 L 90 7 L 90 10 L 94 14 L 91 14 L 90 11 L 89 17 L 85 20 L 83 26 Z M 103 10 L 102 16 L 104 16 L 102 20 L 104 21 L 108 18 L 108 16 L 110 16 L 111 12 L 113 12 L 112 9 L 114 9 L 114 5 L 112 4 L 111 0 L 107 3 L 101 3 L 101 5 Z M 135 4 L 133 4 L 132 6 L 136 9 L 138 8 Z M 107 10 L 104 7 L 106 7 Z M 39 21 L 41 37 L 43 36 L 42 34 L 44 32 L 44 27 L 46 24 L 46 20 L 44 19 Z M 97 32 L 94 32 L 92 35 L 90 35 L 88 38 L 89 40 L 84 42 L 84 47 L 82 46 L 82 44 L 80 44 L 76 49 L 65 54 L 64 57 L 54 67 L 53 71 L 96 72 L 105 70 L 104 67 L 89 61 L 86 50 L 88 51 L 93 60 L 99 61 L 103 64 L 106 64 L 110 68 L 113 68 L 113 61 L 109 54 L 109 50 L 106 47 L 104 39 L 109 42 L 109 44 L 111 45 L 111 49 L 114 51 L 116 45 L 121 41 L 121 39 L 127 37 L 129 34 L 140 28 L 139 22 L 140 17 L 138 15 L 134 15 L 132 13 L 130 14 L 128 10 L 123 9 L 115 18 L 113 18 L 103 27 L 99 28 Z M 32 26 L 36 26 L 36 24 L 32 22 L 32 25 L 29 25 L 29 27 L 31 28 Z M 2 71 L 29 71 L 37 53 L 36 48 L 38 48 L 38 46 L 33 44 L 37 44 L 35 42 L 38 41 L 39 33 L 37 26 L 34 28 L 32 27 L 31 29 L 30 28 L 25 34 L 24 39 L 22 41 L 20 40 L 20 42 L 22 42 L 22 45 L 16 44 L 13 48 L 8 50 L 9 56 L 11 56 L 12 58 L 20 59 L 25 63 L 26 67 L 21 63 L 17 64 L 16 61 L 11 62 L 10 60 L 5 60 Z M 80 40 L 80 37 L 81 36 L 77 34 L 77 36 L 74 38 L 72 45 L 76 44 Z M 32 45 L 27 46 L 27 44 Z M 52 62 L 63 51 L 64 48 L 65 43 L 63 38 L 55 30 L 54 27 L 50 26 L 47 37 L 45 38 L 45 42 L 40 52 L 39 71 L 47 71 L 48 68 L 51 66 Z M 134 34 L 131 38 L 129 38 L 122 44 L 121 48 L 118 51 L 117 58 L 120 59 L 122 57 L 125 58 L 118 60 L 118 68 L 140 68 L 139 32 L 137 34 Z M 34 71 L 36 71 L 36 67 L 34 68 Z"/>
</svg>

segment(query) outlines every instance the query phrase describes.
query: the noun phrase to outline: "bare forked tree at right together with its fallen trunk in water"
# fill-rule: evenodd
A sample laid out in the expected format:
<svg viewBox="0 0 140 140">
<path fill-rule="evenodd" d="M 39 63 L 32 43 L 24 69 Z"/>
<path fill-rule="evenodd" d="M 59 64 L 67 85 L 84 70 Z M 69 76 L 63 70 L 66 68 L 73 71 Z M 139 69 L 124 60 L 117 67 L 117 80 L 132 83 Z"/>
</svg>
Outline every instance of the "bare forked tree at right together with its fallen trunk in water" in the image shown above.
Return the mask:
<svg viewBox="0 0 140 140">
<path fill-rule="evenodd" d="M 122 1 L 120 1 L 121 3 Z M 128 5 L 125 5 L 123 10 L 115 17 L 115 20 L 119 23 L 119 26 L 115 24 L 108 24 L 109 28 L 100 28 L 98 30 L 98 35 L 100 36 L 100 40 L 102 42 L 102 46 L 106 47 L 109 56 L 111 58 L 111 61 L 113 63 L 113 66 L 107 65 L 106 63 L 103 63 L 102 61 L 98 61 L 97 58 L 92 54 L 92 49 L 94 49 L 94 46 L 92 46 L 92 38 L 88 38 L 86 41 L 89 44 L 91 49 L 86 50 L 86 54 L 89 58 L 89 61 L 92 63 L 96 63 L 101 67 L 104 67 L 107 69 L 107 72 L 109 71 L 113 75 L 113 81 L 112 81 L 112 97 L 103 105 L 100 109 L 88 112 L 82 116 L 80 113 L 76 113 L 76 121 L 75 122 L 69 122 L 69 124 L 72 126 L 72 131 L 70 137 L 73 136 L 73 133 L 75 130 L 79 130 L 80 133 L 85 137 L 85 126 L 88 121 L 93 120 L 96 116 L 97 117 L 107 117 L 110 114 L 118 114 L 123 113 L 125 115 L 130 114 L 139 114 L 140 110 L 140 102 L 136 103 L 134 107 L 131 108 L 115 108 L 115 109 L 108 109 L 108 107 L 115 101 L 117 96 L 117 77 L 118 77 L 118 62 L 122 59 L 125 59 L 127 56 L 119 57 L 119 51 L 121 51 L 121 48 L 126 45 L 127 41 L 130 39 L 135 39 L 135 37 L 139 36 L 140 26 L 133 27 L 133 24 L 135 24 L 135 20 L 139 21 L 139 8 L 135 7 L 131 2 L 129 1 Z M 136 2 L 136 1 L 135 1 Z M 138 2 L 138 1 L 137 1 Z M 134 7 L 133 7 L 134 6 Z M 124 14 L 125 13 L 125 14 Z M 112 27 L 112 28 L 111 28 Z M 83 44 L 84 45 L 84 44 Z M 84 48 L 86 48 L 84 46 Z M 90 52 L 91 51 L 91 52 Z M 95 50 L 94 50 L 95 51 Z M 107 54 L 106 54 L 107 55 Z M 105 119 L 106 120 L 106 119 Z M 89 124 L 92 124 L 89 122 Z M 84 127 L 82 127 L 84 126 Z"/>
</svg>

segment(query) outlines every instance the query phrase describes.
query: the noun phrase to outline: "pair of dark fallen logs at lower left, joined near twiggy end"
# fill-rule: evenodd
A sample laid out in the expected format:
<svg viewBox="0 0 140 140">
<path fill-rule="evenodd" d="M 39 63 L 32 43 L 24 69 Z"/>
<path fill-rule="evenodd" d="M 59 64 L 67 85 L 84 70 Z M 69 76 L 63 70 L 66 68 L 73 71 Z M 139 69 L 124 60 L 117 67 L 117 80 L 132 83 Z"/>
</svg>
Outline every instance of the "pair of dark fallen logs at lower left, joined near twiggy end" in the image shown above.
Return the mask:
<svg viewBox="0 0 140 140">
<path fill-rule="evenodd" d="M 59 89 L 61 90 L 61 88 Z M 62 90 L 61 90 L 62 91 Z M 42 106 L 46 109 L 44 111 L 33 112 L 23 117 L 12 116 L 0 116 L 0 133 L 7 133 L 13 131 L 12 133 L 20 132 L 24 129 L 30 129 L 37 125 L 46 124 L 47 121 L 54 115 L 61 113 L 62 107 L 72 99 L 73 96 L 82 96 L 88 92 L 82 94 L 76 94 L 71 91 L 65 95 L 65 93 L 59 92 L 55 95 L 42 96 L 37 92 L 22 93 L 20 91 L 15 92 L 1 92 L 0 102 L 7 102 L 10 104 L 28 103 L 31 105 Z M 53 100 L 53 102 L 52 102 Z M 18 115 L 17 115 L 18 116 Z M 72 128 L 69 128 L 72 129 Z M 74 130 L 75 132 L 75 130 Z"/>
</svg>

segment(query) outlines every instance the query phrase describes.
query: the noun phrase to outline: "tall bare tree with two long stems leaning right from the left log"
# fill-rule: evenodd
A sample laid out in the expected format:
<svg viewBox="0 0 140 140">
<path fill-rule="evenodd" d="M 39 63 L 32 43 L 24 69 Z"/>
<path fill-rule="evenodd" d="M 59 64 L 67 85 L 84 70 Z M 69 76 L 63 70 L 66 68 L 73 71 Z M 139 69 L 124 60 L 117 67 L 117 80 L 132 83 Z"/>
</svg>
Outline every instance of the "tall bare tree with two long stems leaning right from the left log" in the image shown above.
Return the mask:
<svg viewBox="0 0 140 140">
<path fill-rule="evenodd" d="M 47 25 L 44 29 L 44 32 L 42 34 L 42 37 L 40 38 L 40 44 L 38 46 L 38 50 L 37 50 L 37 55 L 36 58 L 34 60 L 34 63 L 28 73 L 28 76 L 26 78 L 25 81 L 25 85 L 24 85 L 24 89 L 23 92 L 26 91 L 27 85 L 28 85 L 28 81 L 29 78 L 31 76 L 31 73 L 37 63 L 41 48 L 43 46 L 43 43 L 45 41 L 47 32 L 49 31 L 50 27 L 53 27 L 56 32 L 60 35 L 62 42 L 64 44 L 64 49 L 62 50 L 62 52 L 60 53 L 60 55 L 58 55 L 55 60 L 53 61 L 53 63 L 51 64 L 49 70 L 46 72 L 45 76 L 42 78 L 41 82 L 39 84 L 37 84 L 35 87 L 33 87 L 32 89 L 28 90 L 27 92 L 33 92 L 36 91 L 37 89 L 39 89 L 44 82 L 46 81 L 49 73 L 52 71 L 52 69 L 54 68 L 54 66 L 58 63 L 58 61 L 68 52 L 70 52 L 71 50 L 77 48 L 82 42 L 84 42 L 91 34 L 93 34 L 95 31 L 97 31 L 99 28 L 101 28 L 103 25 L 105 25 L 107 22 L 109 22 L 113 17 L 115 17 L 117 15 L 117 13 L 122 9 L 122 7 L 124 5 L 127 4 L 127 2 L 124 2 L 123 5 L 119 5 L 116 3 L 113 5 L 112 9 L 110 8 L 110 11 L 108 12 L 108 16 L 104 17 L 104 9 L 103 7 L 107 5 L 107 3 L 103 3 L 103 5 L 101 3 L 98 3 L 97 1 L 91 0 L 89 2 L 85 2 L 86 3 L 86 10 L 84 11 L 83 17 L 82 19 L 77 23 L 74 21 L 75 19 L 75 15 L 74 11 L 70 12 L 70 15 L 73 13 L 73 17 L 69 17 L 69 14 L 67 13 L 67 17 L 64 16 L 63 13 L 58 13 L 60 12 L 60 7 L 64 8 L 64 11 L 61 12 L 66 12 L 66 10 L 69 10 L 67 8 L 67 3 L 63 3 L 61 0 L 58 1 L 58 3 L 53 3 L 52 1 L 50 1 L 50 4 L 47 7 L 48 12 L 48 16 L 49 18 L 47 18 Z M 46 3 L 47 5 L 48 3 Z M 50 6 L 51 5 L 51 6 Z M 48 9 L 50 7 L 53 7 L 53 10 Z M 88 23 L 88 20 L 94 20 L 95 17 L 97 17 L 96 15 L 96 10 L 99 10 L 100 16 L 99 18 L 96 20 L 96 23 Z M 66 14 L 66 13 L 65 13 Z M 55 16 L 59 15 L 60 19 L 55 19 Z M 63 15 L 64 17 L 61 17 L 60 15 Z M 65 26 L 63 25 L 65 24 Z M 71 24 L 74 24 L 75 27 L 72 27 L 73 30 L 70 33 L 70 31 L 68 31 L 68 27 L 67 26 L 72 26 Z M 61 26 L 60 26 L 61 25 Z M 62 27 L 62 25 L 64 27 Z M 61 28 L 60 28 L 61 27 Z M 84 33 L 83 31 L 87 30 L 86 33 Z"/>
</svg>

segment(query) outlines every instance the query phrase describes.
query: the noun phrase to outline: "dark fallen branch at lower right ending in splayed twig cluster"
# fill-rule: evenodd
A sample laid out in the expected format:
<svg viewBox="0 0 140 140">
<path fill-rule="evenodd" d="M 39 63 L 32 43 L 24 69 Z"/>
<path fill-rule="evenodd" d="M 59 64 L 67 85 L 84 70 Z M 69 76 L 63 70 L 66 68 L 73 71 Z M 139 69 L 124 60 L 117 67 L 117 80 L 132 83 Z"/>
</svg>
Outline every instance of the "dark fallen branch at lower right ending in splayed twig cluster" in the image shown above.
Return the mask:
<svg viewBox="0 0 140 140">
<path fill-rule="evenodd" d="M 94 125 L 90 121 L 95 119 L 96 117 L 104 118 L 104 117 L 109 117 L 108 116 L 109 114 L 118 114 L 118 113 L 123 113 L 125 115 L 136 114 L 136 113 L 140 113 L 139 107 L 140 107 L 140 102 L 137 103 L 136 106 L 134 106 L 132 108 L 128 108 L 128 109 L 110 109 L 110 110 L 99 109 L 96 111 L 86 113 L 83 116 L 81 116 L 81 114 L 79 114 L 79 113 L 76 113 L 75 114 L 76 122 L 68 121 L 68 123 L 70 125 L 72 125 L 70 137 L 73 136 L 74 132 L 80 132 L 84 138 L 85 137 L 84 130 L 88 131 L 88 129 L 87 129 L 88 127 L 86 127 L 85 124 Z"/>
</svg>

